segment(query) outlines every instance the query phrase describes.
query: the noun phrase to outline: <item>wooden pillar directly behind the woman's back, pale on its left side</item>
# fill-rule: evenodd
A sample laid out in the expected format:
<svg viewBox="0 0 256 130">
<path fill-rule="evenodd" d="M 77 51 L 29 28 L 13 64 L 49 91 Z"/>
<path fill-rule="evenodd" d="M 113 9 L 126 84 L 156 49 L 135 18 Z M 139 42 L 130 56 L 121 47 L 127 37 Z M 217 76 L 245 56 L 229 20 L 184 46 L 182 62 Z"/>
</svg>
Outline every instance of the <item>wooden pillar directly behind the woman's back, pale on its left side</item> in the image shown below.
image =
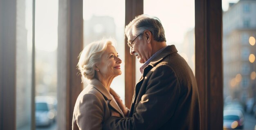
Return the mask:
<svg viewBox="0 0 256 130">
<path fill-rule="evenodd" d="M 76 69 L 83 50 L 83 0 L 59 0 L 58 11 L 58 129 L 70 130 L 76 98 L 83 89 Z"/>
</svg>

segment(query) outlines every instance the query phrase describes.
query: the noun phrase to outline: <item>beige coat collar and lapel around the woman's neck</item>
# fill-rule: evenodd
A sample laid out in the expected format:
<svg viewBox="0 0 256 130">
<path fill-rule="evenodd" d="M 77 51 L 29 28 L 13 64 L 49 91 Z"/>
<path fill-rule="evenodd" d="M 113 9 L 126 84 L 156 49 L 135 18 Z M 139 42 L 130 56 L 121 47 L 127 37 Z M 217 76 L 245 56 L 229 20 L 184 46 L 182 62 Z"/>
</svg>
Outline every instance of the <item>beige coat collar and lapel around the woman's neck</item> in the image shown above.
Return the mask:
<svg viewBox="0 0 256 130">
<path fill-rule="evenodd" d="M 112 88 L 110 88 L 110 92 L 104 87 L 104 85 L 98 80 L 98 79 L 90 79 L 88 81 L 89 84 L 91 84 L 94 88 L 96 88 L 106 100 L 109 100 L 108 104 L 115 109 L 119 114 L 124 117 L 123 112 L 119 108 L 119 106 L 115 103 L 115 101 L 112 99 L 110 93 L 113 95 L 113 97 L 120 97 Z"/>
</svg>

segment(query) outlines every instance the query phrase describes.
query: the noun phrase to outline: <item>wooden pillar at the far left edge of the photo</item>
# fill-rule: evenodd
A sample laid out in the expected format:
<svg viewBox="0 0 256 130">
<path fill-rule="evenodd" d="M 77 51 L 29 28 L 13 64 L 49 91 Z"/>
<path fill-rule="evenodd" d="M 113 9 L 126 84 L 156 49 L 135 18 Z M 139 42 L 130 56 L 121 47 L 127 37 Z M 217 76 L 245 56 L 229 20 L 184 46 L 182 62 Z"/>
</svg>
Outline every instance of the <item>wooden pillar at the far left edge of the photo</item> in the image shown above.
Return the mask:
<svg viewBox="0 0 256 130">
<path fill-rule="evenodd" d="M 16 0 L 0 0 L 0 130 L 16 129 Z"/>
</svg>

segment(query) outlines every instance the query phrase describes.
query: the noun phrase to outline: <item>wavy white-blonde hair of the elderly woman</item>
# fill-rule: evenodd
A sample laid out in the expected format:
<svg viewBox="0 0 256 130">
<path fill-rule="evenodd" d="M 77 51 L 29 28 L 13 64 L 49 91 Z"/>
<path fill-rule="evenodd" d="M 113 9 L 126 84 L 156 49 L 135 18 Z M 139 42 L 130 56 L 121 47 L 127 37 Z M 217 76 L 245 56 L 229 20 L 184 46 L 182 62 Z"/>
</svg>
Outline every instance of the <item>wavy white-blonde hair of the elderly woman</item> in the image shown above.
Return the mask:
<svg viewBox="0 0 256 130">
<path fill-rule="evenodd" d="M 95 66 L 99 63 L 101 55 L 106 51 L 107 45 L 115 45 L 116 41 L 112 38 L 92 42 L 85 46 L 79 54 L 79 62 L 77 64 L 82 75 L 82 82 L 85 79 L 94 79 Z"/>
</svg>

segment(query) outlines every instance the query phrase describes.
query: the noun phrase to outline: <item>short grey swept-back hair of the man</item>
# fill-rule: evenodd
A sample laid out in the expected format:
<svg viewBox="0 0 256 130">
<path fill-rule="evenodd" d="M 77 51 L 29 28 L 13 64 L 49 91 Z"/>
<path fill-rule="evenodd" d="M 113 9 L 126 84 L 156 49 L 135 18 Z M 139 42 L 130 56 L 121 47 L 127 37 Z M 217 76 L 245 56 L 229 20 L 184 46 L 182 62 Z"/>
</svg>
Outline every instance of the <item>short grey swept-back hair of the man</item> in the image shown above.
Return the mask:
<svg viewBox="0 0 256 130">
<path fill-rule="evenodd" d="M 138 15 L 132 20 L 125 29 L 126 37 L 128 37 L 128 31 L 131 31 L 132 35 L 137 36 L 148 30 L 152 33 L 154 40 L 157 42 L 166 42 L 164 35 L 164 28 L 161 21 L 157 17 L 150 15 Z"/>
</svg>

